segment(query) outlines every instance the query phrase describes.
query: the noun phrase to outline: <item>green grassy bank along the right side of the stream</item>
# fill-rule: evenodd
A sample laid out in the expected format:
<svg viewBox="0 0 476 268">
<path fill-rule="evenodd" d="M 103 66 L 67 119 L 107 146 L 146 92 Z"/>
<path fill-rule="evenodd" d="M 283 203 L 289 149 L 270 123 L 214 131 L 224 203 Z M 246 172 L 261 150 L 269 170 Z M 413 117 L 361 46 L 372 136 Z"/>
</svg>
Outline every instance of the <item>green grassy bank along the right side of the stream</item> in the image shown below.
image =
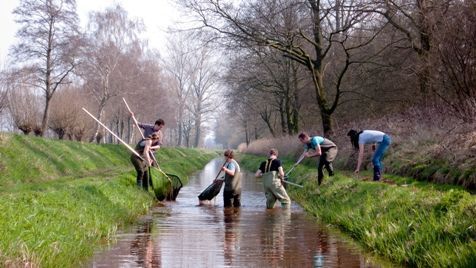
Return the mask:
<svg viewBox="0 0 476 268">
<path fill-rule="evenodd" d="M 242 155 L 240 163 L 256 170 L 262 159 Z M 288 187 L 292 199 L 371 253 L 407 266 L 476 267 L 476 196 L 462 187 L 396 176 L 395 184 L 374 183 L 363 180 L 370 173 L 337 171 L 318 190 L 315 164 L 306 163 L 290 176 L 304 185 Z"/>
</svg>

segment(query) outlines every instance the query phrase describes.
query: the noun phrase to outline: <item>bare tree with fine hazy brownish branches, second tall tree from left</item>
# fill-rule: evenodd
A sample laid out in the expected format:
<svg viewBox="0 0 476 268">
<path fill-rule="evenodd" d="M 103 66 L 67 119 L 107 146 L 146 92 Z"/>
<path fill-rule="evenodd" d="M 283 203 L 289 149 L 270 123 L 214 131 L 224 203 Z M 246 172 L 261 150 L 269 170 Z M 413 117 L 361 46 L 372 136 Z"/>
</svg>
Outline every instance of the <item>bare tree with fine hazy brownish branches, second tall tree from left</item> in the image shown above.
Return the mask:
<svg viewBox="0 0 476 268">
<path fill-rule="evenodd" d="M 142 23 L 129 19 L 119 5 L 90 14 L 81 76 L 86 81 L 85 88 L 97 102 L 100 121 L 110 99 L 124 93 L 123 87 L 118 85 L 131 79 L 120 69 L 126 70 L 127 53 L 138 47 L 138 35 L 142 30 Z M 96 124 L 90 141 L 97 140 L 99 130 L 100 126 Z"/>
</svg>

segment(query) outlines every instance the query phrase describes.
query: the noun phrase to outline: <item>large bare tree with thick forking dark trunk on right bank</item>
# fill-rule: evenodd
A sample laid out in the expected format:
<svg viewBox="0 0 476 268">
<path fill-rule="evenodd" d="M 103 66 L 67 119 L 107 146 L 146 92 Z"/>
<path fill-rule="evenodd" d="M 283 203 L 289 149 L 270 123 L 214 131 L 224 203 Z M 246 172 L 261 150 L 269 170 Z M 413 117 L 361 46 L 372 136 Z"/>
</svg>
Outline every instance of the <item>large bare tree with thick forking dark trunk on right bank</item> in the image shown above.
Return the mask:
<svg viewBox="0 0 476 268">
<path fill-rule="evenodd" d="M 378 33 L 368 32 L 365 38 L 353 38 L 353 29 L 372 22 L 371 14 L 364 12 L 364 1 L 181 2 L 199 17 L 204 27 L 213 30 L 213 38 L 225 38 L 224 44 L 268 46 L 304 66 L 313 81 L 324 135 L 332 133 L 331 116 L 353 63 L 352 52 L 369 44 Z M 339 57 L 335 54 L 338 51 Z M 329 73 L 326 66 L 330 64 L 337 70 Z"/>
</svg>

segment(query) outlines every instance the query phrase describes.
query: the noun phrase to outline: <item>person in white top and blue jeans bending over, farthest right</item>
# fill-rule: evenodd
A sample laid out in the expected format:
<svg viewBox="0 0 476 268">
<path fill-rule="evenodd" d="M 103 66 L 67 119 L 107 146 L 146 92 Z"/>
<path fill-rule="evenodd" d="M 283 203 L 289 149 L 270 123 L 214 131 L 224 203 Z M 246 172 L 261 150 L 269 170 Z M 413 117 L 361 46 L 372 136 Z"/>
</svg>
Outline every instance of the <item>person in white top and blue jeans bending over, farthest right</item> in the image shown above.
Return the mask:
<svg viewBox="0 0 476 268">
<path fill-rule="evenodd" d="M 372 150 L 374 155 L 372 156 L 372 164 L 374 166 L 374 181 L 379 181 L 382 178 L 382 158 L 388 147 L 392 143 L 392 139 L 389 135 L 378 130 L 363 130 L 358 132 L 351 129 L 347 133 L 350 137 L 350 142 L 356 150 L 359 150 L 359 156 L 357 158 L 357 167 L 355 173 L 359 173 L 362 160 L 364 158 L 364 146 L 365 144 L 372 144 Z M 377 145 L 377 146 L 375 146 Z"/>
</svg>

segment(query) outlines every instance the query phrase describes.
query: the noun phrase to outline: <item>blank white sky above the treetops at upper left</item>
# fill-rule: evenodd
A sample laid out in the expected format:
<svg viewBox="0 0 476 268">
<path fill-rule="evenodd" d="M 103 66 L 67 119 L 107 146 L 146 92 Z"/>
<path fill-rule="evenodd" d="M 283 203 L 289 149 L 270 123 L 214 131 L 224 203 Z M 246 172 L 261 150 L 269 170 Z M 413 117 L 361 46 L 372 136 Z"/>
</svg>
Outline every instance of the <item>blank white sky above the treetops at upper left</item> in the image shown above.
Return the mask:
<svg viewBox="0 0 476 268">
<path fill-rule="evenodd" d="M 0 0 L 0 63 L 6 61 L 9 47 L 16 42 L 18 25 L 12 11 L 19 3 L 20 0 Z M 76 0 L 81 26 L 86 25 L 90 11 L 102 11 L 115 3 L 127 10 L 130 18 L 144 20 L 149 46 L 163 54 L 167 27 L 174 25 L 179 16 L 172 0 Z"/>
</svg>

